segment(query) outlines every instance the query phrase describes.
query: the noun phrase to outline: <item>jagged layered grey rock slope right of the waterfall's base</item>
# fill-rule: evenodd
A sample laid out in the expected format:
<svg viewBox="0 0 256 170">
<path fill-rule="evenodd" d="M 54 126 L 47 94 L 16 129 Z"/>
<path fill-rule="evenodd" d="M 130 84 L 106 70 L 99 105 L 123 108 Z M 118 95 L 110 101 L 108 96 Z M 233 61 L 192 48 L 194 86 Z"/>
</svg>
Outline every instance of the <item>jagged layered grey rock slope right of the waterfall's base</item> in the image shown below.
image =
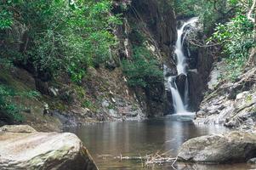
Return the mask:
<svg viewBox="0 0 256 170">
<path fill-rule="evenodd" d="M 249 68 L 235 82 L 210 81 L 211 89 L 196 113 L 195 122 L 253 129 L 256 121 L 255 75 L 256 68 Z"/>
</svg>

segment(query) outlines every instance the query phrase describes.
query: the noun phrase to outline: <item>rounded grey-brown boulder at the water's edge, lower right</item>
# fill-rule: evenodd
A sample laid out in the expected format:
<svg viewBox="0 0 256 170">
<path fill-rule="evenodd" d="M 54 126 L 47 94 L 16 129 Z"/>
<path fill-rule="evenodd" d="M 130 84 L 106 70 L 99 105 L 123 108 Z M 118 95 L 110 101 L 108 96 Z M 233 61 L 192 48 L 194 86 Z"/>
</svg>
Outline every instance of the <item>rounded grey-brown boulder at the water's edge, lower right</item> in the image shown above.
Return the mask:
<svg viewBox="0 0 256 170">
<path fill-rule="evenodd" d="M 178 156 L 181 161 L 248 161 L 256 156 L 256 133 L 237 131 L 190 139 L 181 146 Z"/>
</svg>

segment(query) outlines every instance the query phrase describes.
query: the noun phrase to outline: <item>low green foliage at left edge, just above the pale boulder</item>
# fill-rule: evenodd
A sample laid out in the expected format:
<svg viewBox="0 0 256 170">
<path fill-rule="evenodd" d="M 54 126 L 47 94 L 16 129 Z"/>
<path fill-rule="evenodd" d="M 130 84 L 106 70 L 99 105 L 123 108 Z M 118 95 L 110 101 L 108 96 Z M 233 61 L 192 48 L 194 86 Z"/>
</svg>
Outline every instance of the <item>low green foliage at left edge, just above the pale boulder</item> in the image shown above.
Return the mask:
<svg viewBox="0 0 256 170">
<path fill-rule="evenodd" d="M 20 107 L 12 102 L 17 95 L 13 88 L 0 85 L 0 112 L 10 120 L 22 122 L 24 118 L 20 114 Z"/>
</svg>

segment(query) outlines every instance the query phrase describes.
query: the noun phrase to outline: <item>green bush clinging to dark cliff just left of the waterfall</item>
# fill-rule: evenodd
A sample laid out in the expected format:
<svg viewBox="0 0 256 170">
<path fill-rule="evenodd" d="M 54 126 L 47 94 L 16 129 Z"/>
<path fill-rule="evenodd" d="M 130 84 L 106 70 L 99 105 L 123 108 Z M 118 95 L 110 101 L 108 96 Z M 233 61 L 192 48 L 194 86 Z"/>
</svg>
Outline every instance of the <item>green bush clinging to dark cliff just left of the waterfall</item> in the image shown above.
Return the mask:
<svg viewBox="0 0 256 170">
<path fill-rule="evenodd" d="M 162 82 L 162 70 L 151 52 L 139 46 L 135 46 L 133 52 L 133 60 L 122 60 L 122 68 L 128 77 L 128 85 L 145 88 L 152 83 Z"/>
</svg>

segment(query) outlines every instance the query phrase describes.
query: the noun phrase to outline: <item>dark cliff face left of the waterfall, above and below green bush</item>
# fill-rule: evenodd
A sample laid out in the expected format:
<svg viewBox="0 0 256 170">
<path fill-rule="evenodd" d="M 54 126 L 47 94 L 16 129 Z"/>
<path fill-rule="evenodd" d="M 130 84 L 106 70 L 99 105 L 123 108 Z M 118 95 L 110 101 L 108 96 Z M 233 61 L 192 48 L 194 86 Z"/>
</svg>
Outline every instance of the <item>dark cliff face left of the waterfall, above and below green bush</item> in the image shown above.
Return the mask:
<svg viewBox="0 0 256 170">
<path fill-rule="evenodd" d="M 159 67 L 167 65 L 170 72 L 175 74 L 176 67 L 172 55 L 177 36 L 172 5 L 167 0 L 133 0 L 119 3 L 122 3 L 122 7 L 123 4 L 130 7 L 124 14 L 124 25 L 117 30 L 117 37 L 122 44 L 120 58 L 133 58 L 133 46 L 138 46 L 141 41 L 138 35 L 134 36 L 134 32 L 139 32 L 145 37 L 145 46 L 151 51 Z M 167 97 L 163 81 L 154 82 L 146 88 L 134 88 L 134 94 L 146 116 L 163 116 L 170 110 L 168 99 L 171 98 Z"/>
</svg>

